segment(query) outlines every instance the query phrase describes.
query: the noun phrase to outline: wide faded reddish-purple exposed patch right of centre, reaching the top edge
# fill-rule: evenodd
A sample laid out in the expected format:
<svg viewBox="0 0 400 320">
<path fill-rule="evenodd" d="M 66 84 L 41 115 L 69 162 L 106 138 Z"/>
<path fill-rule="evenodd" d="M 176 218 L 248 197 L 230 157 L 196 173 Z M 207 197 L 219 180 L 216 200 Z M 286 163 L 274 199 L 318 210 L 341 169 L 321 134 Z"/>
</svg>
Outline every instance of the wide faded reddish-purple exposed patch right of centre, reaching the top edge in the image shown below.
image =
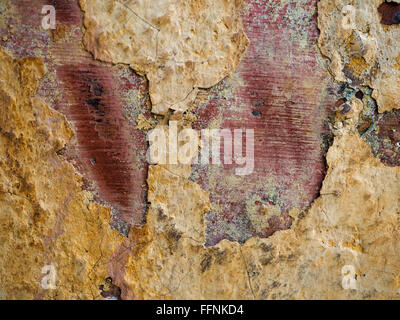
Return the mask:
<svg viewBox="0 0 400 320">
<path fill-rule="evenodd" d="M 196 110 L 198 129 L 221 116 L 221 128 L 255 131 L 254 172 L 237 177 L 240 183 L 227 179 L 234 176 L 233 166 L 215 171 L 195 166 L 193 179 L 222 208 L 208 216 L 208 245 L 224 238 L 243 242 L 287 229 L 288 211 L 308 208 L 319 194 L 325 176 L 322 137 L 328 134 L 324 121 L 338 95 L 327 72 L 316 63 L 316 1 L 303 2 L 305 11 L 296 3 L 279 8 L 280 1 L 249 1 L 243 22 L 251 44 L 237 71 L 243 84 L 234 87 L 232 81 L 224 81 L 211 90 L 208 105 Z M 300 20 L 291 22 L 301 12 Z M 232 91 L 232 98 L 219 94 L 226 90 Z M 280 206 L 281 216 L 256 231 L 258 226 L 246 213 L 251 199 L 260 199 L 259 204 L 250 203 L 260 209 L 263 204 Z"/>
</svg>

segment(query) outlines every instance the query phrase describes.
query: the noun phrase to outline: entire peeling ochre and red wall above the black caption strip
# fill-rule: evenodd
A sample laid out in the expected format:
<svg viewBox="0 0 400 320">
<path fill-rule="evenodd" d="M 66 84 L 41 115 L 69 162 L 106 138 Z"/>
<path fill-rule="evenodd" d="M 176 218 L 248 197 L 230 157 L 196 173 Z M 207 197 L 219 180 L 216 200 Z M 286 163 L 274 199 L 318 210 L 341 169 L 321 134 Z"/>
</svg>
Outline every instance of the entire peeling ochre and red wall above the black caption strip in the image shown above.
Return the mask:
<svg viewBox="0 0 400 320">
<path fill-rule="evenodd" d="M 2 0 L 0 297 L 399 298 L 397 2 Z M 172 123 L 254 171 L 149 165 Z"/>
</svg>

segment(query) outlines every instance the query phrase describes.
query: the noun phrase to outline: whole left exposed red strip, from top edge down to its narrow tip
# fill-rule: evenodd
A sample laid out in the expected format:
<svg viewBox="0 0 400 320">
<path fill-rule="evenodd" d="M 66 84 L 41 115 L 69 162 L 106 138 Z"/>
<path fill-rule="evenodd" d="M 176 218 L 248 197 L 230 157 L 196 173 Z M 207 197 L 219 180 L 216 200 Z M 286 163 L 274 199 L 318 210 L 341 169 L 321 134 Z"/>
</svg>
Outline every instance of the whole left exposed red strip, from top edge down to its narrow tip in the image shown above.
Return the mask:
<svg viewBox="0 0 400 320">
<path fill-rule="evenodd" d="M 54 101 L 51 107 L 65 114 L 75 131 L 76 143 L 71 141 L 61 153 L 83 175 L 84 187 L 95 192 L 97 201 L 110 205 L 117 219 L 131 226 L 142 225 L 147 145 L 145 133 L 136 130 L 125 116 L 123 93 L 147 90 L 145 81 L 134 72 L 129 74 L 131 79 L 121 78 L 116 68 L 95 61 L 84 50 L 78 1 L 21 0 L 15 5 L 23 22 L 15 25 L 18 30 L 12 39 L 17 54 L 42 52 L 47 69 L 55 72 L 57 79 L 44 79 L 40 95 Z M 57 42 L 53 31 L 41 28 L 44 5 L 55 7 L 57 25 L 67 26 L 68 33 L 75 30 L 72 36 Z M 145 103 L 137 107 L 139 112 L 148 109 Z"/>
</svg>

